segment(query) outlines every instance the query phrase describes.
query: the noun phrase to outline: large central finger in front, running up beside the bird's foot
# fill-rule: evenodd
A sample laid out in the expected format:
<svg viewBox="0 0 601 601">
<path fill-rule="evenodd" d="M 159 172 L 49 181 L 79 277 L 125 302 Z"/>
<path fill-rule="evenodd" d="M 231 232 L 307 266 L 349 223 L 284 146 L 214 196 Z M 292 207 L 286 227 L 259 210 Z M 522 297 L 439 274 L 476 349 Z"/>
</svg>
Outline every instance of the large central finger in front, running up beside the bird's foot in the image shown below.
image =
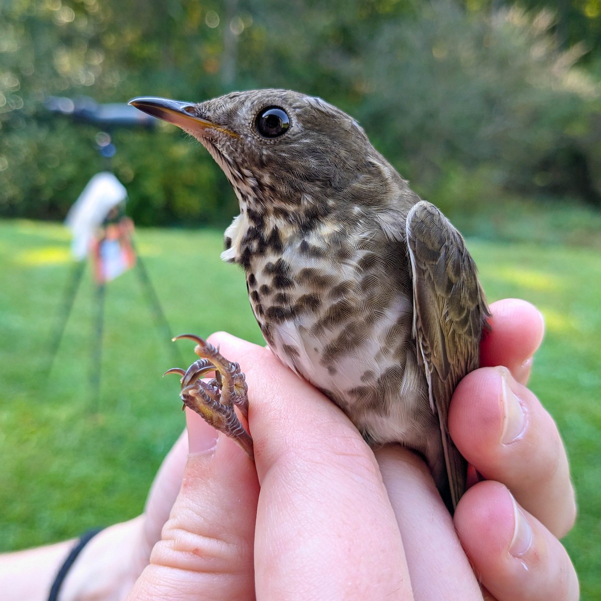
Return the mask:
<svg viewBox="0 0 601 601">
<path fill-rule="evenodd" d="M 249 386 L 257 598 L 412 599 L 394 512 L 356 428 L 269 349 L 212 340 Z"/>
</svg>

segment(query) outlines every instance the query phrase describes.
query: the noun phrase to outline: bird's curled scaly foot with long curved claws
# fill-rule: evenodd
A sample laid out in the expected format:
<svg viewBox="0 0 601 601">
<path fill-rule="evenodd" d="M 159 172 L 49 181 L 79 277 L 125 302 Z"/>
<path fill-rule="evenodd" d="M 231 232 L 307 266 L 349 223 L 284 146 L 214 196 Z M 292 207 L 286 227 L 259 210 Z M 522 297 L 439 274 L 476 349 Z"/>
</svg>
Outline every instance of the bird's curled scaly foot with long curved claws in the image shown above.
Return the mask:
<svg viewBox="0 0 601 601">
<path fill-rule="evenodd" d="M 180 338 L 197 343 L 194 352 L 200 357 L 187 370 L 173 367 L 165 371 L 165 374 L 182 376 L 181 398 L 184 405 L 197 412 L 216 430 L 234 439 L 250 457 L 254 457 L 251 435 L 234 410 L 234 407 L 239 407 L 242 415 L 248 418 L 248 386 L 240 365 L 228 361 L 203 338 L 182 334 L 173 340 Z M 215 372 L 213 379 L 208 382 L 201 379 L 212 371 Z"/>
</svg>

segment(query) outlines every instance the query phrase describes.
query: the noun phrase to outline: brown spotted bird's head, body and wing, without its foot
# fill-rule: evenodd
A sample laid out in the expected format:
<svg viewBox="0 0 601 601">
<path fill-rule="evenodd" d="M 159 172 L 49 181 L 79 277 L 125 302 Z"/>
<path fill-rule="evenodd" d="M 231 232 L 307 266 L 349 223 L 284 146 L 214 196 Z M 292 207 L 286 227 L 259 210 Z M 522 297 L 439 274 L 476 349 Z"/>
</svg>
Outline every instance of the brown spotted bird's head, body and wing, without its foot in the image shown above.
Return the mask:
<svg viewBox="0 0 601 601">
<path fill-rule="evenodd" d="M 423 454 L 452 507 L 466 466 L 451 394 L 478 365 L 488 310 L 463 239 L 352 117 L 287 90 L 133 104 L 182 127 L 240 204 L 222 258 L 242 266 L 273 352 L 371 444 Z"/>
</svg>

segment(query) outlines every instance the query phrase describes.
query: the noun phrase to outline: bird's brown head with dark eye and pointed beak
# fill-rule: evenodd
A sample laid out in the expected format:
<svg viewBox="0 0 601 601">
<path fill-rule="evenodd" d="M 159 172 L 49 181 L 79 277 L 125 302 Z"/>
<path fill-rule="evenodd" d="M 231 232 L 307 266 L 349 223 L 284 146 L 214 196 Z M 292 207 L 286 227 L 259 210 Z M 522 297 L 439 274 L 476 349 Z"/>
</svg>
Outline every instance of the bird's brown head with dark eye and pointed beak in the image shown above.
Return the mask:
<svg viewBox="0 0 601 601">
<path fill-rule="evenodd" d="M 197 138 L 241 207 L 278 211 L 290 221 L 305 212 L 319 218 L 347 201 L 365 203 L 374 198 L 366 188 L 391 175 L 352 117 L 305 94 L 251 90 L 201 103 L 137 98 L 130 104 Z"/>
</svg>

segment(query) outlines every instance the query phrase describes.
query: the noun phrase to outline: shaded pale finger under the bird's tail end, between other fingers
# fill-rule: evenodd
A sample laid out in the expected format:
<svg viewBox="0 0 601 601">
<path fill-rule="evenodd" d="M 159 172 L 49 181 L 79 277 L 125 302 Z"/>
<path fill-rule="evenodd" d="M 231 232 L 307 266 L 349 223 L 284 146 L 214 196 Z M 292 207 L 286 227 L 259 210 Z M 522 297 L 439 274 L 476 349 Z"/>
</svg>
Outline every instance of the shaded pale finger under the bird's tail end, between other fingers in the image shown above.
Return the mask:
<svg viewBox="0 0 601 601">
<path fill-rule="evenodd" d="M 394 508 L 416 601 L 482 595 L 424 462 L 395 445 L 375 451 Z"/>
</svg>

